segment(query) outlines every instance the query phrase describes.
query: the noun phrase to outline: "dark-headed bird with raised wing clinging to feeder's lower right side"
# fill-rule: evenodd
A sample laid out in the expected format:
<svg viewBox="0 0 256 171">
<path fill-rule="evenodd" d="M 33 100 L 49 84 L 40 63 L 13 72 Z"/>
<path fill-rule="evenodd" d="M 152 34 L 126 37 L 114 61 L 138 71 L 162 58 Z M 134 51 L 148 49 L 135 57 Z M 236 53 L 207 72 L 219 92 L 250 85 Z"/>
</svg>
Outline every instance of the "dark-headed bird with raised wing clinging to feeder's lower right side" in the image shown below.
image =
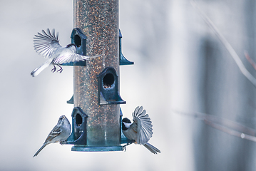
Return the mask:
<svg viewBox="0 0 256 171">
<path fill-rule="evenodd" d="M 122 130 L 123 134 L 129 140 L 134 140 L 135 144 L 144 145 L 150 152 L 157 154 L 160 152 L 157 147 L 150 145 L 148 140 L 152 137 L 152 122 L 148 117 L 148 114 L 145 114 L 143 107 L 135 108 L 133 112 L 133 123 L 130 122 L 128 118 L 123 118 L 122 120 Z"/>
</svg>

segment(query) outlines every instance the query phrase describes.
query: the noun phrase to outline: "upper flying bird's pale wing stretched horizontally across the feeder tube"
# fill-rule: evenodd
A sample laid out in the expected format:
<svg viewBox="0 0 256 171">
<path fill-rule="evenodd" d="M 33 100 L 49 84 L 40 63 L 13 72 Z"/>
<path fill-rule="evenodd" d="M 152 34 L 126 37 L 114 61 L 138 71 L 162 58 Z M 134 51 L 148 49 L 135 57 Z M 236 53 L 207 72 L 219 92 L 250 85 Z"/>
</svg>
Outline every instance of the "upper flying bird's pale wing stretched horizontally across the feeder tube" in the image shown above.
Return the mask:
<svg viewBox="0 0 256 171">
<path fill-rule="evenodd" d="M 101 56 L 101 55 L 98 55 Z M 55 64 L 63 64 L 63 63 L 70 63 L 70 62 L 77 62 L 77 61 L 84 61 L 88 60 L 88 58 L 96 58 L 98 56 L 82 56 L 77 53 L 63 53 L 60 56 L 53 59 L 53 63 Z"/>
</svg>

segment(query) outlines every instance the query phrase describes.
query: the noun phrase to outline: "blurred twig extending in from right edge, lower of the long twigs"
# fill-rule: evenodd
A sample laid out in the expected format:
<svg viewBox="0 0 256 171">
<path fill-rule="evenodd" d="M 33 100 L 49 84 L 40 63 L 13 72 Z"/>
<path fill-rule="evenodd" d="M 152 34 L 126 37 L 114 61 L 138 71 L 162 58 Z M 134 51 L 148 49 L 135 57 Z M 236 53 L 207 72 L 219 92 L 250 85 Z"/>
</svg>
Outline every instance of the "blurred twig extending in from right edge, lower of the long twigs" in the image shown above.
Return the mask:
<svg viewBox="0 0 256 171">
<path fill-rule="evenodd" d="M 231 120 L 226 120 L 223 118 L 216 117 L 214 115 L 209 115 L 206 113 L 185 113 L 178 110 L 173 110 L 174 113 L 179 113 L 182 115 L 189 115 L 193 118 L 203 120 L 206 125 L 209 125 L 217 130 L 220 130 L 229 135 L 233 135 L 238 138 L 245 140 L 250 140 L 256 142 L 256 130 L 248 128 L 240 123 L 235 123 Z"/>
</svg>

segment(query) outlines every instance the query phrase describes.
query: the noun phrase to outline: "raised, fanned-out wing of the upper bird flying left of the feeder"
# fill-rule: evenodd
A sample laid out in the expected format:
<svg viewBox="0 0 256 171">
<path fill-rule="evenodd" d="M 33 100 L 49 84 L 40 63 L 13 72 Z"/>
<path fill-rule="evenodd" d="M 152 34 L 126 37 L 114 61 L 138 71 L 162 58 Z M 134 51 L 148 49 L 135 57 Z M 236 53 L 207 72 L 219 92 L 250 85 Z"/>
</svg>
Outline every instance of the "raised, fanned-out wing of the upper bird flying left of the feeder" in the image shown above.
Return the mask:
<svg viewBox="0 0 256 171">
<path fill-rule="evenodd" d="M 38 33 L 34 37 L 34 48 L 43 57 L 51 58 L 54 51 L 61 48 L 61 45 L 58 43 L 58 32 L 55 35 L 54 29 L 52 33 L 49 28 L 46 31 L 42 30 L 42 33 Z"/>
</svg>

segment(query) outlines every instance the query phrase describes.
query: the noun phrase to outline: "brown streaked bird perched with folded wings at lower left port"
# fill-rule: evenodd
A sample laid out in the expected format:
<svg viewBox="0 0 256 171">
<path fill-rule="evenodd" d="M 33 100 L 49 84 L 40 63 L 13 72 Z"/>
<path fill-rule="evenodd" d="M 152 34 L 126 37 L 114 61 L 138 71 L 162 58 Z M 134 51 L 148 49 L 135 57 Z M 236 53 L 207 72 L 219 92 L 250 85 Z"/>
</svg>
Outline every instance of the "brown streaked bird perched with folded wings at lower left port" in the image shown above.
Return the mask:
<svg viewBox="0 0 256 171">
<path fill-rule="evenodd" d="M 41 150 L 43 150 L 43 148 L 46 147 L 46 145 L 55 143 L 55 142 L 62 142 L 68 139 L 70 133 L 71 133 L 71 125 L 68 121 L 68 118 L 62 115 L 58 119 L 57 125 L 55 125 L 53 130 L 51 130 L 51 132 L 48 134 L 46 141 L 43 143 L 42 147 L 36 152 L 34 157 L 36 157 L 36 155 L 39 155 L 39 152 L 41 152 Z"/>
</svg>

